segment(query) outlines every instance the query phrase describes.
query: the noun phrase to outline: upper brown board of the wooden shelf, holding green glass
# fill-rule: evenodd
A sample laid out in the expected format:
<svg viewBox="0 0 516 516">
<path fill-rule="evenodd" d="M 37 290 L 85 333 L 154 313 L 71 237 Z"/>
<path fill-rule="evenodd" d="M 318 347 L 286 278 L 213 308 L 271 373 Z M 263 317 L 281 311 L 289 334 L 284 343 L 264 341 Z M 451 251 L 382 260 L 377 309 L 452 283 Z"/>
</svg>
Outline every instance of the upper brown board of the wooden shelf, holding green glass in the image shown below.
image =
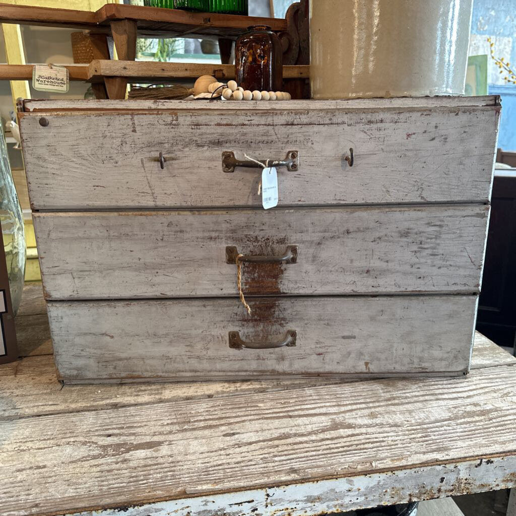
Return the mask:
<svg viewBox="0 0 516 516">
<path fill-rule="evenodd" d="M 96 12 L 0 4 L 0 22 L 94 30 L 110 34 L 111 22 L 136 22 L 139 37 L 230 38 L 250 25 L 268 25 L 276 32 L 287 30 L 285 19 L 189 12 L 122 4 L 107 4 Z"/>
</svg>

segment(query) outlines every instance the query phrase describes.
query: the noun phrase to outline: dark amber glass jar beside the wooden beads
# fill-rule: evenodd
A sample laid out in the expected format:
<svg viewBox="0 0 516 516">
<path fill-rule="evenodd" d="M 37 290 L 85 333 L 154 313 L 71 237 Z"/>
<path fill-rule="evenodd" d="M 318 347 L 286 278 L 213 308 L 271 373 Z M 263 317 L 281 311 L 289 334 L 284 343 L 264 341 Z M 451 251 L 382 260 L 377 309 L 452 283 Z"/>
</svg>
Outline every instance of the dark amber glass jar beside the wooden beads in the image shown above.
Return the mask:
<svg viewBox="0 0 516 516">
<path fill-rule="evenodd" d="M 267 25 L 253 25 L 236 40 L 235 75 L 245 90 L 281 91 L 283 50 Z"/>
</svg>

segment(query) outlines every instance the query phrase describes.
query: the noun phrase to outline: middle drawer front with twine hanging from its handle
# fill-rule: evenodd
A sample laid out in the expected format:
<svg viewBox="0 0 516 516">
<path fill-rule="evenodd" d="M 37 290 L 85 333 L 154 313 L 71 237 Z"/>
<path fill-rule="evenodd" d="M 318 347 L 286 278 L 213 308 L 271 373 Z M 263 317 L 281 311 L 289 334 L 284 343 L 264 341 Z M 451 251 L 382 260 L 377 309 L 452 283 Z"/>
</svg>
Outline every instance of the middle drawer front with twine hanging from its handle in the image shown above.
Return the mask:
<svg viewBox="0 0 516 516">
<path fill-rule="evenodd" d="M 47 299 L 478 292 L 489 207 L 35 213 Z M 294 261 L 294 260 L 286 260 Z M 232 262 L 232 263 L 228 263 Z"/>
</svg>

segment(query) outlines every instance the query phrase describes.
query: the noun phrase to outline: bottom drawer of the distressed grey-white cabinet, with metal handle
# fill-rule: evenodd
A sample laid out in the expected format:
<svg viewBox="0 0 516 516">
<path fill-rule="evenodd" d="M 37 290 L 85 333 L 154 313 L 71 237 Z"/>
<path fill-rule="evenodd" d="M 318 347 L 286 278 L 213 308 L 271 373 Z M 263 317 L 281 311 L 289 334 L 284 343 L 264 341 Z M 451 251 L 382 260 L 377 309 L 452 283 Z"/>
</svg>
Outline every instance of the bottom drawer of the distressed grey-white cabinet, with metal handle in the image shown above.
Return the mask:
<svg viewBox="0 0 516 516">
<path fill-rule="evenodd" d="M 66 383 L 467 373 L 476 296 L 52 301 Z"/>
</svg>

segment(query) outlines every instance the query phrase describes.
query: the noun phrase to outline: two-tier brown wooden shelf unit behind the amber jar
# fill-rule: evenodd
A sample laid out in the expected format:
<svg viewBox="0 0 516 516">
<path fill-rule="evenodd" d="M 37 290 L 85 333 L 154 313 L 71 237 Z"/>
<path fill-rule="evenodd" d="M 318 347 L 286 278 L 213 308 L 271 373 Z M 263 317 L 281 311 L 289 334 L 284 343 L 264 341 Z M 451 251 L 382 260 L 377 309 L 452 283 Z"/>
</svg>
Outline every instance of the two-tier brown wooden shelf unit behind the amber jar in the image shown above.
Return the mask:
<svg viewBox="0 0 516 516">
<path fill-rule="evenodd" d="M 73 34 L 74 58 L 89 65 L 68 66 L 70 80 L 92 83 L 98 99 L 125 98 L 128 82 L 159 83 L 172 79 L 214 75 L 217 78 L 234 76 L 232 61 L 233 40 L 251 25 L 268 25 L 275 31 L 283 49 L 284 85 L 293 98 L 309 98 L 305 80 L 308 74 L 309 30 L 308 0 L 292 4 L 284 19 L 189 12 L 179 9 L 160 9 L 121 4 L 107 4 L 98 11 L 76 11 L 47 7 L 27 7 L 0 3 L 0 23 L 67 27 L 87 31 Z M 120 61 L 111 61 L 112 37 Z M 198 63 L 135 62 L 138 37 L 150 38 L 208 38 L 219 42 L 223 65 Z M 111 48 L 110 48 L 111 46 Z M 91 62 L 90 62 L 91 61 Z M 33 65 L 0 65 L 0 79 L 30 80 Z M 104 84 L 102 84 L 104 83 Z M 296 84 L 294 84 L 296 83 Z M 288 88 L 287 88 L 288 86 Z"/>
</svg>

